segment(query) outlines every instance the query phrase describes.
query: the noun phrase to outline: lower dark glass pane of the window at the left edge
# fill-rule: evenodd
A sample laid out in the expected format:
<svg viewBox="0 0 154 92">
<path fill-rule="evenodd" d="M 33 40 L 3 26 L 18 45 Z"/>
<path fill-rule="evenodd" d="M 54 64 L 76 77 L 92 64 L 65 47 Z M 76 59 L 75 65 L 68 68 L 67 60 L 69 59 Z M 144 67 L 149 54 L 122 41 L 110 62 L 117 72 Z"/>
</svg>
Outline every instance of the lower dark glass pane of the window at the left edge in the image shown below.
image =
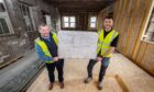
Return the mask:
<svg viewBox="0 0 154 92">
<path fill-rule="evenodd" d="M 0 19 L 0 33 L 9 33 L 9 27 L 4 19 Z"/>
</svg>

